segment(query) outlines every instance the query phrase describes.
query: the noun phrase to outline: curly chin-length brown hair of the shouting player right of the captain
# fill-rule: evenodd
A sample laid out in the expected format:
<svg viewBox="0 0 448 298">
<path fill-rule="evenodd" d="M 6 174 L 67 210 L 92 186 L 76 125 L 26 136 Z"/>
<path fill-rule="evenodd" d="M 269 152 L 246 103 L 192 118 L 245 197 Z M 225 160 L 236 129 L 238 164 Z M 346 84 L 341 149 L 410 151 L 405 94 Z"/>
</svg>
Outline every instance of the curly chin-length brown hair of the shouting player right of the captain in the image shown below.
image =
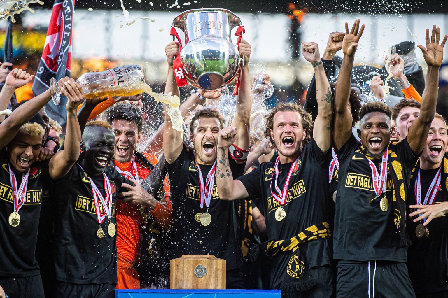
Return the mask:
<svg viewBox="0 0 448 298">
<path fill-rule="evenodd" d="M 271 110 L 269 114 L 265 116 L 266 118 L 266 129 L 264 130 L 264 137 L 269 138 L 271 140 L 272 145 L 275 145 L 274 140 L 271 138 L 271 130 L 274 129 L 274 116 L 276 116 L 277 112 L 281 111 L 291 111 L 297 112 L 302 117 L 302 128 L 306 130 L 306 136 L 303 140 L 303 146 L 310 143 L 311 136 L 313 134 L 313 117 L 311 117 L 309 112 L 306 112 L 305 108 L 302 105 L 297 104 L 297 102 L 290 101 L 289 103 L 280 103 L 277 104 L 275 108 Z"/>
</svg>

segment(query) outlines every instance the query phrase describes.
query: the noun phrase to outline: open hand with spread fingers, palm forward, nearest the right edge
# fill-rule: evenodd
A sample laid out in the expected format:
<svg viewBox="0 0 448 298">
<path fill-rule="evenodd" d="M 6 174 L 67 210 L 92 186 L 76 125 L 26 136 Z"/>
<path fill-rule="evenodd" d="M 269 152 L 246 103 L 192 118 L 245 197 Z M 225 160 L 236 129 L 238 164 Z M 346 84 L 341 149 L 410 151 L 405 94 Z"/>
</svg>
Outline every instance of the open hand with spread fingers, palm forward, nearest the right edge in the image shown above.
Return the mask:
<svg viewBox="0 0 448 298">
<path fill-rule="evenodd" d="M 429 40 L 429 29 L 426 29 L 426 48 L 419 44 L 417 47 L 422 50 L 423 58 L 428 66 L 440 67 L 444 60 L 444 46 L 448 35 L 445 35 L 442 43 L 440 41 L 440 28 L 432 26 L 431 41 Z"/>
</svg>

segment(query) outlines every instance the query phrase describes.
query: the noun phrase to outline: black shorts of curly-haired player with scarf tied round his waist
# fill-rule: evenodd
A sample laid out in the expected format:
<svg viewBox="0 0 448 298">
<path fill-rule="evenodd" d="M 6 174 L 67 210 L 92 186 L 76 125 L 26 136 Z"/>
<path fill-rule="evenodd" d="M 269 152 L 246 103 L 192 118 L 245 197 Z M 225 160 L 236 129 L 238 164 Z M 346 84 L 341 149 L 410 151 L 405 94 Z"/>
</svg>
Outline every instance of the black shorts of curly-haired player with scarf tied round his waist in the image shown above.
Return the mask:
<svg viewBox="0 0 448 298">
<path fill-rule="evenodd" d="M 336 297 L 336 277 L 334 269 L 329 266 L 310 268 L 311 276 L 318 284 L 307 291 L 282 293 L 281 298 L 334 298 Z M 348 298 L 350 296 L 347 296 Z"/>
</svg>

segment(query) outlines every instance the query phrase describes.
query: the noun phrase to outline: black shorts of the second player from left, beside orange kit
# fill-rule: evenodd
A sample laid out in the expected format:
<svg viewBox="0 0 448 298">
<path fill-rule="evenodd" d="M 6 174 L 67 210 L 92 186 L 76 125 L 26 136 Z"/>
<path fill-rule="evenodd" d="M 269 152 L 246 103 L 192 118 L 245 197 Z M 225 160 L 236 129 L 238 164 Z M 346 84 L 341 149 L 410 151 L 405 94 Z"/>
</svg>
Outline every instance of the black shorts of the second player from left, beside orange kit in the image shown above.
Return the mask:
<svg viewBox="0 0 448 298">
<path fill-rule="evenodd" d="M 53 297 L 57 298 L 114 298 L 115 285 L 111 284 L 73 284 L 56 281 Z"/>
</svg>

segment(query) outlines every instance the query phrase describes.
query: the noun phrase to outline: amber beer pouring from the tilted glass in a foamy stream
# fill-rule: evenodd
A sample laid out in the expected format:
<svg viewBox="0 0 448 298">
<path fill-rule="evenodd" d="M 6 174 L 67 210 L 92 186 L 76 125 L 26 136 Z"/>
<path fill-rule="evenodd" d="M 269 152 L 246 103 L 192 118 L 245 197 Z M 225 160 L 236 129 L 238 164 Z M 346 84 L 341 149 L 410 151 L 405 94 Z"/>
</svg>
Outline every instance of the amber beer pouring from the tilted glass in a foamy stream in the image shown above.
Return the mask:
<svg viewBox="0 0 448 298">
<path fill-rule="evenodd" d="M 140 93 L 146 93 L 154 97 L 158 103 L 165 104 L 167 114 L 171 118 L 172 128 L 183 132 L 182 125 L 184 119 L 181 116 L 181 99 L 177 95 L 155 93 L 152 91 L 151 86 L 144 82 L 138 82 L 132 86 L 123 87 L 120 85 L 110 86 L 107 89 L 94 89 L 93 91 L 84 94 L 85 99 L 95 99 L 106 96 L 132 96 Z"/>
</svg>

